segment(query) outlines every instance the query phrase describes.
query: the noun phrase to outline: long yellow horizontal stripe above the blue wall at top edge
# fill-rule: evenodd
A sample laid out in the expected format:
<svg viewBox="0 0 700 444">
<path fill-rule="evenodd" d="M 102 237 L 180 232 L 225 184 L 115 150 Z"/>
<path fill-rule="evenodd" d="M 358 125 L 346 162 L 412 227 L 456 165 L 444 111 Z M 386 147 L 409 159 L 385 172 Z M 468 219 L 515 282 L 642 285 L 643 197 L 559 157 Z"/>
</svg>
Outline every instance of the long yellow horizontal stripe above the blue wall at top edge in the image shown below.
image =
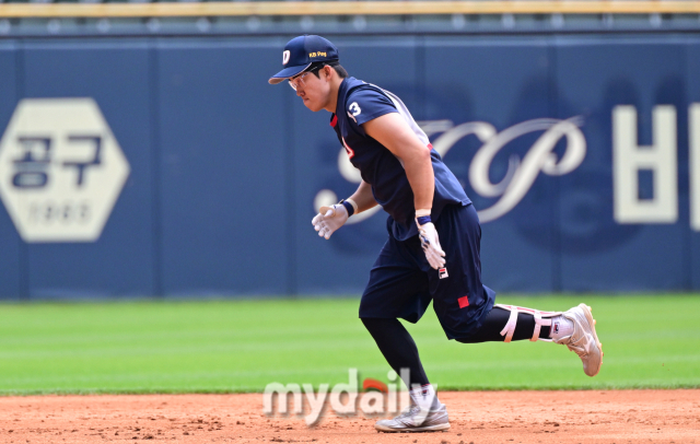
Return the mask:
<svg viewBox="0 0 700 444">
<path fill-rule="evenodd" d="M 1 3 L 0 17 L 700 13 L 700 1 L 246 1 Z"/>
</svg>

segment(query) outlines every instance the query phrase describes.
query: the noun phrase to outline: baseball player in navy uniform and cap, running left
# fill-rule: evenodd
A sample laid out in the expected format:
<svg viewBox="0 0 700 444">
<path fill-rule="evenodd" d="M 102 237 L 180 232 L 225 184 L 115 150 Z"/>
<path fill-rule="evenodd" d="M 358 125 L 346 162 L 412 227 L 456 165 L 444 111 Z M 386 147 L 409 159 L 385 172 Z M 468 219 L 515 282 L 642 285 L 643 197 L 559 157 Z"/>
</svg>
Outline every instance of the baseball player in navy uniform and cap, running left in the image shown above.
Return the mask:
<svg viewBox="0 0 700 444">
<path fill-rule="evenodd" d="M 409 370 L 402 377 L 411 406 L 376 422 L 378 431 L 450 429 L 418 348 L 398 320 L 418 322 L 431 300 L 450 339 L 552 341 L 575 351 L 586 375 L 598 373 L 603 352 L 588 306 L 560 313 L 494 305 L 495 293 L 481 282 L 477 211 L 400 98 L 349 77 L 336 46 L 320 36 L 290 40 L 282 65 L 269 83 L 287 80 L 308 109 L 329 112 L 338 141 L 362 175 L 352 196 L 312 220 L 318 235 L 329 239 L 348 218 L 377 205 L 388 213 L 388 238 L 362 294 L 360 319 L 392 369 Z"/>
</svg>

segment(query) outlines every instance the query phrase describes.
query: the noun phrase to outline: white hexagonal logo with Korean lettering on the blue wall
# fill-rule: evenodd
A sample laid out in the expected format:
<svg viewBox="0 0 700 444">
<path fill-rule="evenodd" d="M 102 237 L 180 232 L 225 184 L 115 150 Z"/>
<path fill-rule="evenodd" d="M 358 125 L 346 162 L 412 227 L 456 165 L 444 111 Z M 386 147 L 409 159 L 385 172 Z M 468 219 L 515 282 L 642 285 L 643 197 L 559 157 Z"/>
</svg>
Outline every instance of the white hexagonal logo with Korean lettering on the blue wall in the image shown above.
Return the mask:
<svg viewBox="0 0 700 444">
<path fill-rule="evenodd" d="M 0 198 L 25 242 L 95 242 L 129 176 L 92 98 L 25 98 L 0 141 Z"/>
</svg>

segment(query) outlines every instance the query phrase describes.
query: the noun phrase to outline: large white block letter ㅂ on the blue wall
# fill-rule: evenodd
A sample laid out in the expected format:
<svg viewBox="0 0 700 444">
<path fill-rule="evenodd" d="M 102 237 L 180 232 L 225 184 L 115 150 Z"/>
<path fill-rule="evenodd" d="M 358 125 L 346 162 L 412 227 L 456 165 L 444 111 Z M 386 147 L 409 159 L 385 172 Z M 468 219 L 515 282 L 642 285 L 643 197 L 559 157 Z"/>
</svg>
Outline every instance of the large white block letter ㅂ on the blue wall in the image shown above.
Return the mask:
<svg viewBox="0 0 700 444">
<path fill-rule="evenodd" d="M 612 109 L 612 184 L 618 223 L 674 223 L 678 220 L 676 108 L 654 107 L 653 145 L 637 144 L 637 109 Z M 639 171 L 651 170 L 654 197 L 639 198 Z"/>
</svg>

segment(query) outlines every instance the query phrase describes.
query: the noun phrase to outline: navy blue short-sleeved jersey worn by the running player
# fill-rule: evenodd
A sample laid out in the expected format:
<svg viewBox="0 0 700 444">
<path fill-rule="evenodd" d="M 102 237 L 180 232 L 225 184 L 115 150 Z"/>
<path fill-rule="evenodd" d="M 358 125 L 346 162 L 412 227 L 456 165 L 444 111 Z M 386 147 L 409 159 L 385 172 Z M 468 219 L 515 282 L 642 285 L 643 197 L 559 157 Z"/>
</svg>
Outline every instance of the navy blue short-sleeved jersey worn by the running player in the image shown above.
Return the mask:
<svg viewBox="0 0 700 444">
<path fill-rule="evenodd" d="M 436 221 L 447 205 L 465 206 L 471 201 L 457 178 L 432 149 L 428 136 L 413 120 L 406 105 L 396 95 L 354 78 L 347 78 L 338 91 L 338 105 L 330 126 L 338 135 L 352 165 L 360 170 L 362 179 L 372 186 L 374 199 L 389 213 L 392 234 L 406 241 L 418 234 L 413 221 L 416 208 L 413 191 L 404 166 L 383 144 L 364 132 L 362 124 L 389 113 L 401 115 L 420 141 L 430 150 L 435 175 L 435 192 L 431 218 Z"/>
</svg>

